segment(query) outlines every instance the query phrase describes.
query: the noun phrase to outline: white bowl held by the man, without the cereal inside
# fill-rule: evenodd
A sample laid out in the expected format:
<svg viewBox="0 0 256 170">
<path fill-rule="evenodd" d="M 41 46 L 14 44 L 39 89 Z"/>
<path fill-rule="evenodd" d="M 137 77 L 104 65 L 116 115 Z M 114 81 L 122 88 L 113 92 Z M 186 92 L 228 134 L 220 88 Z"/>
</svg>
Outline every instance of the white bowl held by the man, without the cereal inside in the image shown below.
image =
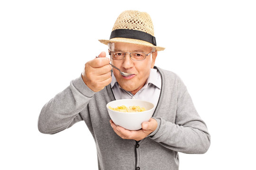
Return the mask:
<svg viewBox="0 0 256 170">
<path fill-rule="evenodd" d="M 140 112 L 121 112 L 109 109 L 109 106 L 116 108 L 122 105 L 125 105 L 126 107 L 144 107 L 146 110 Z M 141 124 L 145 121 L 148 121 L 152 117 L 154 108 L 155 106 L 153 103 L 137 99 L 121 99 L 109 102 L 107 104 L 107 109 L 112 121 L 116 125 L 124 127 L 128 130 L 141 129 Z"/>
</svg>

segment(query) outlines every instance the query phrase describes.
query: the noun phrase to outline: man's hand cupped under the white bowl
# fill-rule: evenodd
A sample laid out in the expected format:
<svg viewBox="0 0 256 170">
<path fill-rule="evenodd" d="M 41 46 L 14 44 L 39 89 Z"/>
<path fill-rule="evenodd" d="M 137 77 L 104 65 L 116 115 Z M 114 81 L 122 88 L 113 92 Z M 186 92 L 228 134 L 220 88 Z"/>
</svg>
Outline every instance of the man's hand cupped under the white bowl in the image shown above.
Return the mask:
<svg viewBox="0 0 256 170">
<path fill-rule="evenodd" d="M 127 130 L 123 127 L 115 125 L 115 123 L 110 120 L 110 125 L 113 130 L 116 132 L 118 136 L 123 139 L 134 139 L 134 140 L 142 140 L 153 131 L 155 131 L 157 127 L 157 121 L 153 118 L 150 118 L 147 122 L 143 122 L 141 124 L 142 128 L 139 130 Z"/>
</svg>

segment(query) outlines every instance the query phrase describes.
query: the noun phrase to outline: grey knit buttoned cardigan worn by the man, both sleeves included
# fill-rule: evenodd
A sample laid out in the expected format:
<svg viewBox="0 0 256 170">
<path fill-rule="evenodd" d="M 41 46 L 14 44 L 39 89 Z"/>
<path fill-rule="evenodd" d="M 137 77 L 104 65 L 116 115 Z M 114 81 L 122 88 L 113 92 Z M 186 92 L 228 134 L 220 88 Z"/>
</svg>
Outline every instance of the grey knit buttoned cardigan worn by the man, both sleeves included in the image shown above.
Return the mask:
<svg viewBox="0 0 256 170">
<path fill-rule="evenodd" d="M 110 85 L 95 93 L 81 76 L 45 104 L 38 119 L 39 131 L 55 134 L 84 120 L 96 143 L 99 170 L 178 170 L 178 152 L 205 153 L 210 134 L 179 76 L 155 68 L 162 77 L 152 116 L 158 126 L 143 140 L 122 139 L 113 131 L 106 109 L 115 100 Z"/>
</svg>

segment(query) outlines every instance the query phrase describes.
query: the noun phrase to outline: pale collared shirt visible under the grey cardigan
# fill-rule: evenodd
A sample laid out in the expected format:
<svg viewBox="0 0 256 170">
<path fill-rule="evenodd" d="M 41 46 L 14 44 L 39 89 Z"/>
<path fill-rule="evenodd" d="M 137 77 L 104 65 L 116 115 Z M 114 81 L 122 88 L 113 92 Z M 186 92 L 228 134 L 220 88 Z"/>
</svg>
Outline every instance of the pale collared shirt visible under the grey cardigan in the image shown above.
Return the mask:
<svg viewBox="0 0 256 170">
<path fill-rule="evenodd" d="M 135 94 L 133 95 L 131 92 L 128 92 L 118 84 L 116 77 L 112 73 L 112 81 L 110 83 L 112 91 L 114 93 L 114 96 L 116 100 L 119 99 L 139 99 L 139 100 L 145 100 L 148 102 L 152 102 L 155 107 L 157 105 L 159 95 L 161 92 L 161 75 L 160 73 L 155 69 L 150 69 L 150 74 L 146 80 L 146 84 Z"/>
</svg>

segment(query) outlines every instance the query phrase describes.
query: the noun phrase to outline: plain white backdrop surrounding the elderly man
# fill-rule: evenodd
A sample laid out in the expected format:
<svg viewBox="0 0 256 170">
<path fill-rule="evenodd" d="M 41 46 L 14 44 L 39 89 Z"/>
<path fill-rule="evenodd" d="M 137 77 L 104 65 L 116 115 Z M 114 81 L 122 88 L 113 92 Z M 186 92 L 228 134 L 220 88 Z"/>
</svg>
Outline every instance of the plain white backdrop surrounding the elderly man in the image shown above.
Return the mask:
<svg viewBox="0 0 256 170">
<path fill-rule="evenodd" d="M 254 0 L 1 0 L 0 169 L 98 168 L 84 122 L 45 135 L 37 119 L 107 51 L 98 39 L 109 39 L 128 9 L 151 16 L 157 45 L 166 47 L 155 65 L 183 79 L 211 134 L 207 153 L 180 153 L 180 170 L 255 170 Z"/>
</svg>

